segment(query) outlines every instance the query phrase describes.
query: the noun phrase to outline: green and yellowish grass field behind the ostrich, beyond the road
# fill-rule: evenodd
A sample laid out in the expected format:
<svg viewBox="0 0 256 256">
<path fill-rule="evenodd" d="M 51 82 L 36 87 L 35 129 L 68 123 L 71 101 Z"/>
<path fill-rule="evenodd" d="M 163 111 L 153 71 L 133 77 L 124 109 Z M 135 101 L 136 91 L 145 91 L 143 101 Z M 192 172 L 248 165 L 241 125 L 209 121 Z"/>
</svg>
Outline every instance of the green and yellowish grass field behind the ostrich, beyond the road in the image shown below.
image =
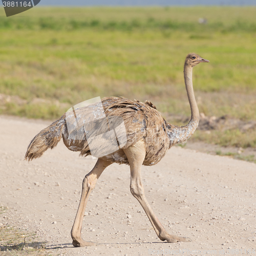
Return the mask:
<svg viewBox="0 0 256 256">
<path fill-rule="evenodd" d="M 0 114 L 57 118 L 93 97 L 151 100 L 189 116 L 189 52 L 200 112 L 256 120 L 256 7 L 32 8 L 0 12 Z M 206 18 L 206 24 L 199 24 Z M 181 124 L 181 123 L 177 123 Z M 194 139 L 256 146 L 256 131 L 197 132 Z"/>
</svg>

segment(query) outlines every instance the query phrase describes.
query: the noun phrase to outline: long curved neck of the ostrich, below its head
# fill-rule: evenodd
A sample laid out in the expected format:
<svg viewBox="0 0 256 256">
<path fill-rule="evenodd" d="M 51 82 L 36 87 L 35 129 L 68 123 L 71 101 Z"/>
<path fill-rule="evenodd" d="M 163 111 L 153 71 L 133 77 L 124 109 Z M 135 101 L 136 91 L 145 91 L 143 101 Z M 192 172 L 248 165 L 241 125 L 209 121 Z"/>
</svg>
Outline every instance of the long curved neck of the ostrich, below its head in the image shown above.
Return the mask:
<svg viewBox="0 0 256 256">
<path fill-rule="evenodd" d="M 187 91 L 187 97 L 191 109 L 191 119 L 185 126 L 175 126 L 167 124 L 167 134 L 170 139 L 169 147 L 186 141 L 191 135 L 194 134 L 199 124 L 199 110 L 194 94 L 192 82 L 192 67 L 185 64 L 184 66 L 184 80 Z"/>
</svg>

